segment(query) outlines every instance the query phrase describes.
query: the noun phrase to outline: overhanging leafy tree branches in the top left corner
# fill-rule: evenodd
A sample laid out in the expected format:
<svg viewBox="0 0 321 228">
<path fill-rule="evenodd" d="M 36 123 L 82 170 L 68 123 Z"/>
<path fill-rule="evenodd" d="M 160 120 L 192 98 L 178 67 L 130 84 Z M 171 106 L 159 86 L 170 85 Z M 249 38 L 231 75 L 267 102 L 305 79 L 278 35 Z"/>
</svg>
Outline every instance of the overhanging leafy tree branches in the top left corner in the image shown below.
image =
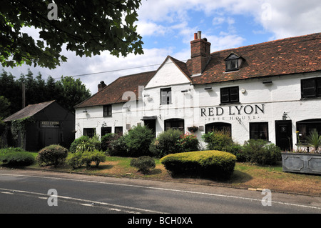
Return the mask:
<svg viewBox="0 0 321 228">
<path fill-rule="evenodd" d="M 140 4 L 141 0 L 1 1 L 1 64 L 53 69 L 67 60 L 61 55 L 63 44 L 78 56 L 106 50 L 116 56 L 143 54 L 143 41 L 134 26 Z M 25 26 L 40 29 L 41 40 L 22 32 Z"/>
</svg>

